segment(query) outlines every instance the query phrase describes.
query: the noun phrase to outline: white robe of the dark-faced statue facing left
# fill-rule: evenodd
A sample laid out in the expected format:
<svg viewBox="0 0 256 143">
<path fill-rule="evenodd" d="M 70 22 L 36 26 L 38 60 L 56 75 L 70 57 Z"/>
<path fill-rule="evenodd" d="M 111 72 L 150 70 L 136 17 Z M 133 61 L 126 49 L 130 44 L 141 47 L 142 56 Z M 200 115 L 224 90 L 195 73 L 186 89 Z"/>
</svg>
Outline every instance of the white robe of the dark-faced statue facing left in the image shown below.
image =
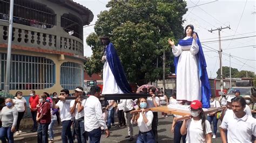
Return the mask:
<svg viewBox="0 0 256 143">
<path fill-rule="evenodd" d="M 114 75 L 109 66 L 109 62 L 107 62 L 106 56 L 104 55 L 104 59 L 106 60 L 103 66 L 103 89 L 102 94 L 123 94 L 124 92 L 118 87 L 116 80 L 114 79 Z"/>
</svg>

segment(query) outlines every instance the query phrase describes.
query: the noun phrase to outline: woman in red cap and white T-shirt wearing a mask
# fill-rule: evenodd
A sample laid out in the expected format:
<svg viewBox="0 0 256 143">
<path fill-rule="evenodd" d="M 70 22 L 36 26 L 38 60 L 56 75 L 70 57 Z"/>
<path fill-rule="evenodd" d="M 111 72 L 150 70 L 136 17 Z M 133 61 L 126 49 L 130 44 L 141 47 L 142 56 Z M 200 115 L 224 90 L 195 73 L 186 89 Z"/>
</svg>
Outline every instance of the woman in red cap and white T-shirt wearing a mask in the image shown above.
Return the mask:
<svg viewBox="0 0 256 143">
<path fill-rule="evenodd" d="M 184 120 L 180 128 L 181 135 L 187 134 L 186 142 L 212 142 L 211 125 L 205 119 L 202 106 L 198 100 L 190 104 L 192 118 Z"/>
</svg>

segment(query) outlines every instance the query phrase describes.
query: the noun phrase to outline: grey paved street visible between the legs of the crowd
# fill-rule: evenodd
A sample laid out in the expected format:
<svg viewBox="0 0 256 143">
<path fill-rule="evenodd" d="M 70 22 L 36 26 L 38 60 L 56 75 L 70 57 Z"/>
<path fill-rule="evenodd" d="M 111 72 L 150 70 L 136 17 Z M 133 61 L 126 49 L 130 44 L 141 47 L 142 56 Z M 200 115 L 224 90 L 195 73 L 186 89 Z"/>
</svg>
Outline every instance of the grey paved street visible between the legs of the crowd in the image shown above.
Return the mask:
<svg viewBox="0 0 256 143">
<path fill-rule="evenodd" d="M 173 134 L 170 132 L 170 126 L 172 124 L 172 116 L 169 117 L 161 117 L 160 113 L 158 114 L 159 117 L 159 126 L 158 126 L 158 141 L 159 142 L 173 142 Z M 218 122 L 220 124 L 220 121 Z M 131 141 L 132 143 L 136 142 L 137 134 L 138 134 L 138 127 L 134 126 L 134 140 Z M 118 128 L 113 127 L 111 128 L 111 135 L 109 138 L 105 138 L 105 134 L 102 135 L 102 139 L 100 142 L 109 143 L 109 142 L 129 142 L 124 137 L 127 135 L 127 128 Z M 61 143 L 60 136 L 55 138 L 58 143 Z M 35 141 L 31 141 L 35 142 Z M 221 142 L 219 131 L 217 131 L 217 138 L 213 139 L 212 142 Z"/>
</svg>

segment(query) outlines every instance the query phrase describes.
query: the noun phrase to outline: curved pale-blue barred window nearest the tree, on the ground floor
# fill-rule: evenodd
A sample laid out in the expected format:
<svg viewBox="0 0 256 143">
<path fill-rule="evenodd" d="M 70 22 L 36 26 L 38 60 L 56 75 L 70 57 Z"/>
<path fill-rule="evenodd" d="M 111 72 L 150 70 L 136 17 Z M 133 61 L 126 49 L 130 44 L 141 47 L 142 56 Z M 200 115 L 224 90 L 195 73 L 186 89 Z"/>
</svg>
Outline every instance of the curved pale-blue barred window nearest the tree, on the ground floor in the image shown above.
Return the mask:
<svg viewBox="0 0 256 143">
<path fill-rule="evenodd" d="M 64 62 L 60 66 L 60 85 L 62 88 L 73 90 L 82 86 L 83 66 L 75 62 Z"/>
</svg>

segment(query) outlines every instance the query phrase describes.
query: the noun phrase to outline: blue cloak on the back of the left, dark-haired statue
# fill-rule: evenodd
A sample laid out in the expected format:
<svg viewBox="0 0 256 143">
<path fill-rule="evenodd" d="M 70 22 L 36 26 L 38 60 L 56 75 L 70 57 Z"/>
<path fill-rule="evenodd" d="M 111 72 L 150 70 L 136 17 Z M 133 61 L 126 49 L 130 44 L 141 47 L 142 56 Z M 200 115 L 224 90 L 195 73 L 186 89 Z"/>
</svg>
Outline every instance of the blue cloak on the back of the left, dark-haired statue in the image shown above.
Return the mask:
<svg viewBox="0 0 256 143">
<path fill-rule="evenodd" d="M 125 94 L 130 94 L 131 87 L 126 79 L 123 66 L 112 43 L 106 47 L 106 59 L 109 63 L 110 69 L 114 75 L 114 79 L 116 80 L 118 87 Z"/>
</svg>

